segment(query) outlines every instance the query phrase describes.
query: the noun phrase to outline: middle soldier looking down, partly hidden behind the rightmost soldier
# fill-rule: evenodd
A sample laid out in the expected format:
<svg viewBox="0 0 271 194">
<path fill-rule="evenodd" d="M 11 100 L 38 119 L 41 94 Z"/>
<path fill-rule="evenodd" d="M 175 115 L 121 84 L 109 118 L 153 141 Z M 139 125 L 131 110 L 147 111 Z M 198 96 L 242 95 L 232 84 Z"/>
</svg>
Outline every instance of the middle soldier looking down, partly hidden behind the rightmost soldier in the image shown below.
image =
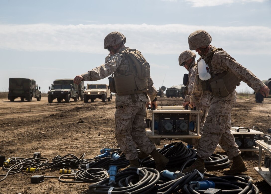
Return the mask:
<svg viewBox="0 0 271 194">
<path fill-rule="evenodd" d="M 190 50 L 183 51 L 179 56 L 179 65 L 183 66 L 188 71 L 188 93 L 185 95 L 185 101 L 183 102 L 183 107 L 189 105 L 191 101 L 191 93 L 193 90 L 193 86 L 195 84 L 195 78 L 198 74 L 197 64 L 195 62 L 196 54 Z M 207 114 L 209 108 L 209 98 L 211 93 L 208 91 L 194 91 L 195 98 L 195 107 L 196 110 L 203 111 L 203 114 L 200 115 L 200 134 L 202 134 L 202 125 L 204 123 L 205 116 Z M 197 116 L 195 114 L 190 115 L 190 121 L 197 121 Z M 196 145 L 197 147 L 197 145 Z"/>
</svg>

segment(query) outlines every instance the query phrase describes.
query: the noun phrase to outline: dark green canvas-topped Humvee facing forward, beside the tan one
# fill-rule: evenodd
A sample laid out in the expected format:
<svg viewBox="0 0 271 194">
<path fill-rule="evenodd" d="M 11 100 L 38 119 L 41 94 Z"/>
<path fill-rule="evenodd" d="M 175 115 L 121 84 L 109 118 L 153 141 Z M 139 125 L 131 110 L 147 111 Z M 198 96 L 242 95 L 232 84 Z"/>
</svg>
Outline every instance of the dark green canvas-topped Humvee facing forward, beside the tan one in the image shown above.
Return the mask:
<svg viewBox="0 0 271 194">
<path fill-rule="evenodd" d="M 57 99 L 57 102 L 61 102 L 63 99 L 70 102 L 71 98 L 76 102 L 79 97 L 80 100 L 84 99 L 84 82 L 77 85 L 73 83 L 73 79 L 57 79 L 54 80 L 51 87 L 49 86 L 50 91 L 48 92 L 49 103 L 52 103 L 54 99 Z"/>
</svg>

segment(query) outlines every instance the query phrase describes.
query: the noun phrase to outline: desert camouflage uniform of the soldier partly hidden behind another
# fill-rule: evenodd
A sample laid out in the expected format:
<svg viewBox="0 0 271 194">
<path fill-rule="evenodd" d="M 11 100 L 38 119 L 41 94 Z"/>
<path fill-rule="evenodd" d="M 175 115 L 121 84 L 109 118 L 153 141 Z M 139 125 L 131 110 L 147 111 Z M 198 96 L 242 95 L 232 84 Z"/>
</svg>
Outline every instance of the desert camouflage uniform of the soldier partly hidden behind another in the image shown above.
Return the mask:
<svg viewBox="0 0 271 194">
<path fill-rule="evenodd" d="M 195 78 L 196 75 L 198 74 L 198 68 L 196 66 L 196 63 L 194 65 L 191 65 L 189 70 L 188 70 L 189 74 L 188 74 L 188 94 L 185 96 L 185 101 L 191 101 L 191 93 L 193 91 L 193 86 L 195 83 Z M 203 114 L 200 115 L 199 118 L 199 130 L 200 130 L 200 134 L 202 134 L 202 127 L 203 127 L 203 123 L 204 123 L 204 119 L 205 116 L 208 112 L 208 108 L 209 108 L 209 98 L 211 96 L 211 94 L 207 91 L 201 91 L 198 90 L 196 91 L 197 93 L 194 93 L 194 101 L 196 103 L 196 109 L 197 110 L 201 110 L 203 111 Z M 197 121 L 197 115 L 196 114 L 191 114 L 190 115 L 190 120 L 191 121 Z"/>
</svg>

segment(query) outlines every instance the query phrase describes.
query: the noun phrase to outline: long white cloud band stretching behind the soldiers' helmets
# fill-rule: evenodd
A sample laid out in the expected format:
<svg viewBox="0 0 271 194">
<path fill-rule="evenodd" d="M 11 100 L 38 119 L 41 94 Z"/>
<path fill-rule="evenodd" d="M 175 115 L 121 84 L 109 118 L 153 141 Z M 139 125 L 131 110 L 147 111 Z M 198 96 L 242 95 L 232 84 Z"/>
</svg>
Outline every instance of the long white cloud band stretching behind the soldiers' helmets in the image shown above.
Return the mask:
<svg viewBox="0 0 271 194">
<path fill-rule="evenodd" d="M 72 51 L 105 54 L 104 37 L 120 31 L 127 46 L 149 54 L 179 54 L 188 49 L 187 38 L 204 29 L 212 44 L 237 54 L 269 54 L 271 29 L 264 26 L 220 27 L 183 24 L 91 24 L 91 25 L 1 25 L 0 49 L 22 51 Z"/>
</svg>

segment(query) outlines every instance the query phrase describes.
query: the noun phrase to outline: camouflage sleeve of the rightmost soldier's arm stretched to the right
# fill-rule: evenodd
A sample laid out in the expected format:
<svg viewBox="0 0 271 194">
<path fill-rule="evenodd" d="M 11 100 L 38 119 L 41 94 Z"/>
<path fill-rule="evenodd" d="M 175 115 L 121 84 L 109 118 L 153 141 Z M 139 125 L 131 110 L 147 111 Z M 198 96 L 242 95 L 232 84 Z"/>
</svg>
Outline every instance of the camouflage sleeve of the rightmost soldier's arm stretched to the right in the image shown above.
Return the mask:
<svg viewBox="0 0 271 194">
<path fill-rule="evenodd" d="M 215 52 L 212 63 L 221 64 L 221 68 L 225 68 L 225 70 L 231 72 L 234 74 L 238 79 L 245 82 L 249 87 L 251 87 L 255 92 L 258 92 L 261 87 L 263 87 L 265 84 L 256 77 L 250 70 L 240 65 L 238 62 L 235 61 L 234 58 L 232 58 L 229 54 L 226 52 L 218 51 Z"/>
</svg>

